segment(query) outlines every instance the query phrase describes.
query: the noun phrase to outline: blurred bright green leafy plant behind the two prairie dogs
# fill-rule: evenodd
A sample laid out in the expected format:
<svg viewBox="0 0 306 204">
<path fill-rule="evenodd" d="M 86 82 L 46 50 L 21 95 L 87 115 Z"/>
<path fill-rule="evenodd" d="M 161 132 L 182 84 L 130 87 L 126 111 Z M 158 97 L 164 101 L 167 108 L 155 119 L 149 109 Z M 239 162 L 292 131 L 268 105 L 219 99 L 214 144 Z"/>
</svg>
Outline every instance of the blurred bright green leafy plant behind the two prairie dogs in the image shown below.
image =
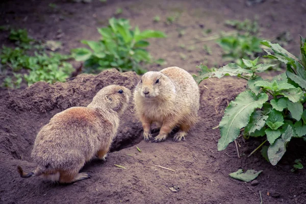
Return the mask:
<svg viewBox="0 0 306 204">
<path fill-rule="evenodd" d="M 99 72 L 108 68 L 118 68 L 120 71 L 133 70 L 144 73 L 141 63 L 152 63 L 152 57 L 145 47 L 149 45 L 146 39 L 164 38 L 160 31 L 145 30 L 140 32 L 136 27 L 131 29 L 129 20 L 109 20 L 109 26 L 97 29 L 101 35 L 99 41 L 82 40 L 88 48 L 72 49 L 76 61 L 85 61 L 86 72 Z"/>
</svg>

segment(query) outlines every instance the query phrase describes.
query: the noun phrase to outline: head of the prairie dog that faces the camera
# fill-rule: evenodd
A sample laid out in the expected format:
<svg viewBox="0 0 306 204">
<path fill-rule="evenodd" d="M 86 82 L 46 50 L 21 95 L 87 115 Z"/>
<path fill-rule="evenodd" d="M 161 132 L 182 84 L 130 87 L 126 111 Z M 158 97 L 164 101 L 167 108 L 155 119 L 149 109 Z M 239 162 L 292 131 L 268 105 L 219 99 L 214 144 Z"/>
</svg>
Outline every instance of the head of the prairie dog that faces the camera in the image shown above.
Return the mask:
<svg viewBox="0 0 306 204">
<path fill-rule="evenodd" d="M 167 98 L 175 93 L 175 87 L 165 74 L 148 71 L 142 75 L 136 92 L 146 99 Z"/>
</svg>

